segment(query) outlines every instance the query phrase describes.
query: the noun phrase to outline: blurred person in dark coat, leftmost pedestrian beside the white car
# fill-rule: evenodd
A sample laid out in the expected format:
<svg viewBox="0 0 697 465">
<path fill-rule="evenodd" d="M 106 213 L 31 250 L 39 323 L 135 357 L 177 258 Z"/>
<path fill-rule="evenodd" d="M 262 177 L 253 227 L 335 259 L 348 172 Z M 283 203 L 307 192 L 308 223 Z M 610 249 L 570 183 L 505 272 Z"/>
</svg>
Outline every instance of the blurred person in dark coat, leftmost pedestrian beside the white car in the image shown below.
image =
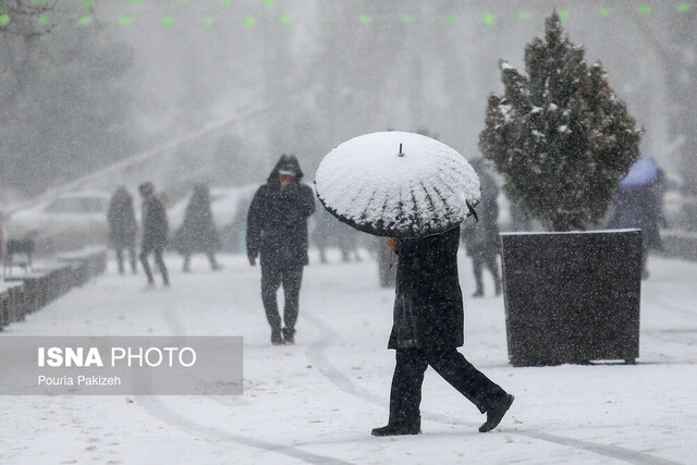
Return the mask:
<svg viewBox="0 0 697 465">
<path fill-rule="evenodd" d="M 117 250 L 119 273 L 124 273 L 123 250 L 127 249 L 131 257 L 131 269 L 135 274 L 137 271 L 135 258 L 135 233 L 138 225 L 135 221 L 133 196 L 125 187 L 119 187 L 111 197 L 109 211 L 107 213 L 107 221 L 109 222 L 109 241 Z"/>
</svg>

